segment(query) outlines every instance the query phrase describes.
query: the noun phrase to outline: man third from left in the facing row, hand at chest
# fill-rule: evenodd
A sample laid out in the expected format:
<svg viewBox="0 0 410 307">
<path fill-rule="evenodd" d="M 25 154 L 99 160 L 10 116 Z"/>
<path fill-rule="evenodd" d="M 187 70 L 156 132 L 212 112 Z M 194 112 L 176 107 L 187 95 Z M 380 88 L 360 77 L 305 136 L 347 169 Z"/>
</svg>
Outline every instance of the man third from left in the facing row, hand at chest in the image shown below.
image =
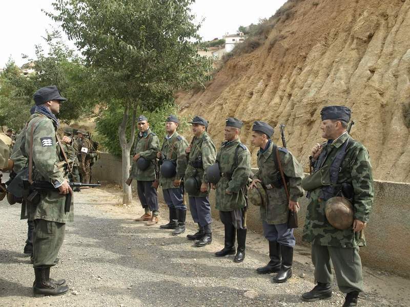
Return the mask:
<svg viewBox="0 0 410 307">
<path fill-rule="evenodd" d="M 185 188 L 189 196 L 192 219 L 198 223 L 198 231 L 187 235 L 189 240 L 198 240 L 195 246 L 206 246 L 212 242 L 211 205 L 209 204 L 209 183 L 207 168 L 215 163 L 216 148 L 207 133 L 208 121 L 195 116 L 191 122 L 194 137 L 185 152 L 188 166 L 185 171 Z"/>
</svg>

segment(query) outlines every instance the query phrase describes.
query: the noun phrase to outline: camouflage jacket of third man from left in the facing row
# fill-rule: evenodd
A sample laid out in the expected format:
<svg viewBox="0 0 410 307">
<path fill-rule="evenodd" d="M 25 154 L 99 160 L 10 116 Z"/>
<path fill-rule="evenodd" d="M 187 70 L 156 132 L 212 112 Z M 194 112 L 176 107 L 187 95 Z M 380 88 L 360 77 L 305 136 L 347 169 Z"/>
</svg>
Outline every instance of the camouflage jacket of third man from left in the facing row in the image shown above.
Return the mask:
<svg viewBox="0 0 410 307">
<path fill-rule="evenodd" d="M 202 160 L 202 167 L 195 168 L 194 163 L 199 157 L 201 157 Z M 207 168 L 215 163 L 215 158 L 216 148 L 210 135 L 204 131 L 200 137 L 194 137 L 191 152 L 189 154 L 187 170 L 185 171 L 185 179 L 195 176 L 201 181 L 201 183 L 208 183 Z M 208 195 L 209 188 L 207 192 L 198 191 L 195 195 L 189 196 L 205 197 Z"/>
</svg>

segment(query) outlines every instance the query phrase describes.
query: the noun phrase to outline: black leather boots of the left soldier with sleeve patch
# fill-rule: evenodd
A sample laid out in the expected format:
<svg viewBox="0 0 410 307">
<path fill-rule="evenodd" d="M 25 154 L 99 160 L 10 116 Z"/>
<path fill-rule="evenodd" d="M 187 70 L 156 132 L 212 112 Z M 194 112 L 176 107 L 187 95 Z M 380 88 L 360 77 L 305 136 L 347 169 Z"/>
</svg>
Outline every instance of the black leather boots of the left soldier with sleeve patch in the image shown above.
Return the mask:
<svg viewBox="0 0 410 307">
<path fill-rule="evenodd" d="M 50 280 L 50 268 L 34 269 L 35 281 L 33 286 L 33 293 L 35 297 L 42 297 L 46 295 L 63 295 L 68 291 L 68 286 L 59 286 Z M 65 281 L 64 281 L 65 282 Z"/>
</svg>

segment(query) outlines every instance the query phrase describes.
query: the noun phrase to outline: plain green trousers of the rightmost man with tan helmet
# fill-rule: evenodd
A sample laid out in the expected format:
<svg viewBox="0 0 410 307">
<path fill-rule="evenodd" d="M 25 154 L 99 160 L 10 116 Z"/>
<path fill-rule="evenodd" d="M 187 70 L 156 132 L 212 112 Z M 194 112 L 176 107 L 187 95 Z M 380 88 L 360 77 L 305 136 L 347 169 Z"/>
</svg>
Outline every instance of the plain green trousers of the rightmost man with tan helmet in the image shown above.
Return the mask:
<svg viewBox="0 0 410 307">
<path fill-rule="evenodd" d="M 342 248 L 312 244 L 312 262 L 315 280 L 332 282 L 332 264 L 336 273 L 337 286 L 343 293 L 363 291 L 362 262 L 359 248 Z"/>
</svg>

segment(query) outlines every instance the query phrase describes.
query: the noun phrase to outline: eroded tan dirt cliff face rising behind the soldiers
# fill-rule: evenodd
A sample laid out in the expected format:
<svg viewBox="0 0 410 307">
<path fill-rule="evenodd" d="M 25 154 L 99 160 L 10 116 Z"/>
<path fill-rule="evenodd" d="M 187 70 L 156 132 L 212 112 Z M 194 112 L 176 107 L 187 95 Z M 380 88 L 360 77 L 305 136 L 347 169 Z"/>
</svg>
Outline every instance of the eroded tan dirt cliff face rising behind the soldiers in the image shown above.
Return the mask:
<svg viewBox="0 0 410 307">
<path fill-rule="evenodd" d="M 217 146 L 224 120 L 243 120 L 254 165 L 252 122 L 274 126 L 278 144 L 284 123 L 307 170 L 310 149 L 323 141 L 321 108 L 343 104 L 375 179 L 410 182 L 410 0 L 294 0 L 277 15 L 262 46 L 231 58 L 206 90 L 177 94 L 182 115 L 207 118 Z"/>
</svg>

